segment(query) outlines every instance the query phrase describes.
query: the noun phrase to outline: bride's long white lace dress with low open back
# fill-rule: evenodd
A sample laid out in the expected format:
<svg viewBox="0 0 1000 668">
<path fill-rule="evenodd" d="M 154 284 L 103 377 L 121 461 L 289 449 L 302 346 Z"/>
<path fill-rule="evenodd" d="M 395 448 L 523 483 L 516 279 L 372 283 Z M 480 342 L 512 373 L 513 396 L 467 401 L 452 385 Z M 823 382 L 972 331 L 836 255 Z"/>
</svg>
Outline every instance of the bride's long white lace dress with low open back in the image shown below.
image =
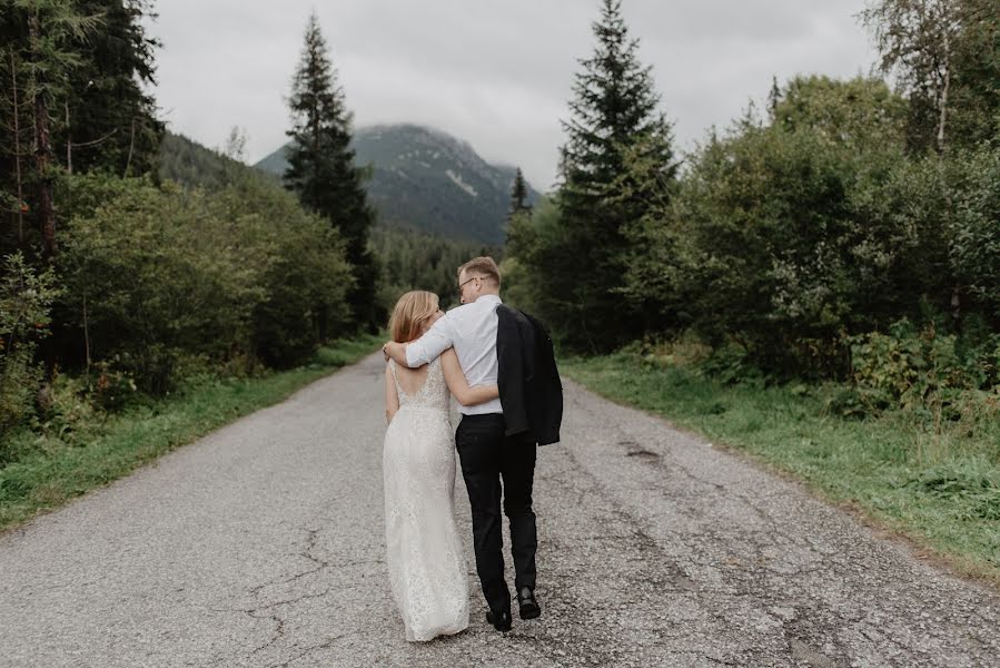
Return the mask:
<svg viewBox="0 0 1000 668">
<path fill-rule="evenodd" d="M 385 522 L 393 597 L 407 640 L 468 627 L 468 577 L 455 523 L 455 442 L 440 357 L 408 396 L 396 379 L 399 411 L 385 435 Z"/>
</svg>

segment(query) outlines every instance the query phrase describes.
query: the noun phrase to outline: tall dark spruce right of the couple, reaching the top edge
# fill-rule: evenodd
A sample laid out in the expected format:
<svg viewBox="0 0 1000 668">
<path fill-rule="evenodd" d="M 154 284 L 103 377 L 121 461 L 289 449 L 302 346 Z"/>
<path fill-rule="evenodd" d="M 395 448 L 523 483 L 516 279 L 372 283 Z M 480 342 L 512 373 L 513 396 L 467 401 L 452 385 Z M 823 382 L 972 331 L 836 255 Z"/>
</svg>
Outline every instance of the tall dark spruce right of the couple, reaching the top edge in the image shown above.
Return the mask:
<svg viewBox="0 0 1000 668">
<path fill-rule="evenodd" d="M 572 117 L 563 122 L 558 203 L 565 247 L 548 255 L 566 342 L 608 350 L 638 336 L 641 308 L 623 301 L 633 253 L 630 229 L 662 207 L 675 177 L 671 126 L 659 110 L 651 68 L 638 60 L 621 0 L 602 0 L 597 46 L 576 75 Z M 642 166 L 642 178 L 631 171 Z M 650 178 L 651 173 L 655 178 Z M 652 189 L 652 190 L 651 190 Z"/>
</svg>

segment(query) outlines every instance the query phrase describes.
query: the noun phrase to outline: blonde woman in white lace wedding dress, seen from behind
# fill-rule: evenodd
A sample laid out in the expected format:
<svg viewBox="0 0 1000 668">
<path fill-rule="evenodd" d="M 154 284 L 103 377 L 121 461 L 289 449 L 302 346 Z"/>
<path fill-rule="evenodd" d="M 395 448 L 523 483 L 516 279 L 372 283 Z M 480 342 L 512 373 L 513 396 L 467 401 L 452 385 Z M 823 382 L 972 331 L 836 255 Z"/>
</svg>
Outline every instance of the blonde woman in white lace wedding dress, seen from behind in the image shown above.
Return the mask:
<svg viewBox="0 0 1000 668">
<path fill-rule="evenodd" d="M 389 320 L 408 343 L 444 313 L 437 295 L 409 292 Z M 496 385 L 469 387 L 455 351 L 419 369 L 386 366 L 383 471 L 389 583 L 406 639 L 425 641 L 468 627 L 468 578 L 454 515 L 455 442 L 448 394 L 463 405 L 496 399 Z"/>
</svg>

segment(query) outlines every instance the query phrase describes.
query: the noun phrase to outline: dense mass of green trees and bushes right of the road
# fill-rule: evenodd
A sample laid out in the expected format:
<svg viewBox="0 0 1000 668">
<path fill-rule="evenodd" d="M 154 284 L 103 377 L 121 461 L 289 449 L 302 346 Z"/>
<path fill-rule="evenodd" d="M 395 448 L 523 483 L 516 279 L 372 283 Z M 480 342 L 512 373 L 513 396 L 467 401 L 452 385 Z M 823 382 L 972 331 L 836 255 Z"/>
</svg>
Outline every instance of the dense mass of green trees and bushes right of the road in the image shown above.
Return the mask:
<svg viewBox="0 0 1000 668">
<path fill-rule="evenodd" d="M 918 26 L 930 4 L 951 8 L 948 39 Z M 597 56 L 583 62 L 573 102 L 593 110 L 567 124 L 564 183 L 512 218 L 506 247 L 514 294 L 565 346 L 696 336 L 726 373 L 859 387 L 881 373 L 870 351 L 889 346 L 908 365 L 891 373 L 924 389 L 908 396 L 997 386 L 996 1 L 878 3 L 867 18 L 883 65 L 901 72 L 899 90 L 871 78 L 775 85 L 763 115 L 751 108 L 713 130 L 676 178 L 656 134 L 623 146 L 601 121 L 602 91 L 613 88 L 595 63 L 614 62 L 625 43 L 608 37 L 624 32 L 616 3 L 603 7 Z M 937 69 L 918 71 L 928 63 Z M 643 87 L 635 77 L 630 90 Z M 643 99 L 634 118 L 655 97 Z M 928 380 L 928 369 L 943 375 Z M 902 394 L 879 396 L 868 409 Z"/>
</svg>

